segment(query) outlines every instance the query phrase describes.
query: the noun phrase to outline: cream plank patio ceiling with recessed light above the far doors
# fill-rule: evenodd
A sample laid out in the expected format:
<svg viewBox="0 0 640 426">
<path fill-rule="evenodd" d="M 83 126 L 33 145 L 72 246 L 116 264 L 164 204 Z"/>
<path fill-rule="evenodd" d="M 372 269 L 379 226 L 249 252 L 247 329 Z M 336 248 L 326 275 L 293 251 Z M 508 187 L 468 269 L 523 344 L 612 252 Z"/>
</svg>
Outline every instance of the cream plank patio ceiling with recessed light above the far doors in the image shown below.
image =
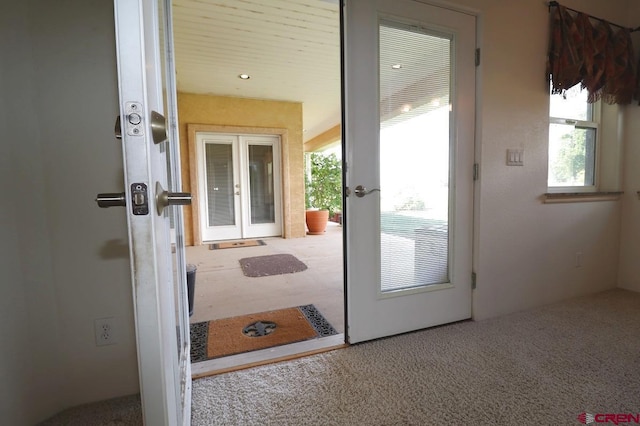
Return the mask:
<svg viewBox="0 0 640 426">
<path fill-rule="evenodd" d="M 305 141 L 340 123 L 337 0 L 174 0 L 173 26 L 179 91 L 302 102 Z"/>
</svg>

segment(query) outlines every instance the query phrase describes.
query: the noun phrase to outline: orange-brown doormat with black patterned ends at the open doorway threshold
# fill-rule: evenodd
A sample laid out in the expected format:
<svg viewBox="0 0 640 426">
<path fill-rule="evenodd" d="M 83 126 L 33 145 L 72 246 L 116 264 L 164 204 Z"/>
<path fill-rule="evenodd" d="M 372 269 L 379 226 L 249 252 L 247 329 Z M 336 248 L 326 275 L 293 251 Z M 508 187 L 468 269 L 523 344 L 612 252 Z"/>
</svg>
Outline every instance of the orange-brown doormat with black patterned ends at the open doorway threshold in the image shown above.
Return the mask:
<svg viewBox="0 0 640 426">
<path fill-rule="evenodd" d="M 338 332 L 314 305 L 191 324 L 191 362 L 236 355 Z"/>
</svg>

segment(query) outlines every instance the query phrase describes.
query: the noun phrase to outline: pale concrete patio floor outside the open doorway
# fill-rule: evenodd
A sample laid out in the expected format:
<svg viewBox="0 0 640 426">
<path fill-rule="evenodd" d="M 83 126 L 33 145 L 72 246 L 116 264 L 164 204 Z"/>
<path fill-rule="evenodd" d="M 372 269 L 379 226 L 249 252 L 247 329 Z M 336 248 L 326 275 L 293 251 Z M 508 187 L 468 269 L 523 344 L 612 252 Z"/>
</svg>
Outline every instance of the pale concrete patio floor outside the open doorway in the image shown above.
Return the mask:
<svg viewBox="0 0 640 426">
<path fill-rule="evenodd" d="M 187 263 L 196 265 L 191 323 L 313 304 L 344 333 L 342 226 L 329 222 L 323 235 L 262 238 L 266 245 L 210 250 L 209 244 L 186 248 Z M 292 274 L 251 278 L 239 259 L 292 254 L 308 269 Z"/>
</svg>

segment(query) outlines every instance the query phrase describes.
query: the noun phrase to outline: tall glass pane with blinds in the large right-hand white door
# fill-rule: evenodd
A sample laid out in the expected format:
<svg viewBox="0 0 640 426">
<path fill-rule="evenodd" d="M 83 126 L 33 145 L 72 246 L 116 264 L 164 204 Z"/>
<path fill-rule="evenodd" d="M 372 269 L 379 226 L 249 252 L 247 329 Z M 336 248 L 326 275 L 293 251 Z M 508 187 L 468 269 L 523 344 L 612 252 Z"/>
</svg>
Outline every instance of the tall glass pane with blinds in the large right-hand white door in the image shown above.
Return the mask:
<svg viewBox="0 0 640 426">
<path fill-rule="evenodd" d="M 449 281 L 451 40 L 382 21 L 382 292 Z"/>
</svg>

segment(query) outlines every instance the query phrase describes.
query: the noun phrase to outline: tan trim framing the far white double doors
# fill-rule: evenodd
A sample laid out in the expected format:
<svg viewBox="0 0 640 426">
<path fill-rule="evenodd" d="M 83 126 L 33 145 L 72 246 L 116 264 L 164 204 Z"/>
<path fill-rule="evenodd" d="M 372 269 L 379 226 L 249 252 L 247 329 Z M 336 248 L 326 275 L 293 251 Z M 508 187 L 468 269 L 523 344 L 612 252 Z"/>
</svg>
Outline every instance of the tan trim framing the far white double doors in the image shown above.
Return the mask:
<svg viewBox="0 0 640 426">
<path fill-rule="evenodd" d="M 242 127 L 242 126 L 222 126 L 211 124 L 187 124 L 187 138 L 189 143 L 189 171 L 191 193 L 193 202 L 191 204 L 191 220 L 193 231 L 193 245 L 203 244 L 200 232 L 200 207 L 199 194 L 200 182 L 198 175 L 198 141 L 196 133 L 235 133 L 247 135 L 275 135 L 280 136 L 280 173 L 281 173 L 281 193 L 282 193 L 282 237 L 288 238 L 291 235 L 291 221 L 293 212 L 289 209 L 291 205 L 290 187 L 291 176 L 289 166 L 289 130 L 276 127 Z"/>
</svg>

